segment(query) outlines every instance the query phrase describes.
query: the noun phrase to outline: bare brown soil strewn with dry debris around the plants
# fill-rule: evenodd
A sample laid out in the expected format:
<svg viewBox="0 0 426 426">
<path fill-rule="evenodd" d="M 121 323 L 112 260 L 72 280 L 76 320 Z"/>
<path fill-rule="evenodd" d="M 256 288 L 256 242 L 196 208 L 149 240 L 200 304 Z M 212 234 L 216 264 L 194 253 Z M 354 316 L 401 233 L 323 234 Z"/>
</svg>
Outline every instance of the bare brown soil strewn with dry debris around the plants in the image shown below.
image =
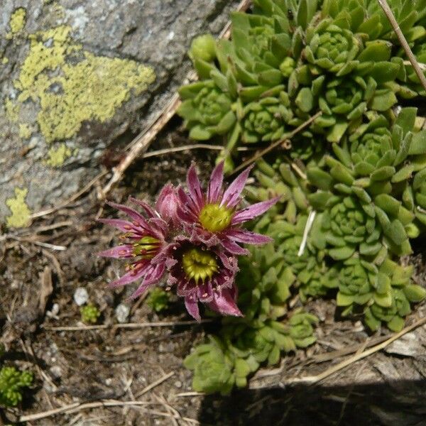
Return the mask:
<svg viewBox="0 0 426 426">
<path fill-rule="evenodd" d="M 190 143 L 173 121 L 153 149 Z M 120 158 L 124 141 L 104 156 L 106 167 Z M 220 141 L 219 141 L 220 143 Z M 165 182 L 183 182 L 192 160 L 207 179 L 214 151 L 183 151 L 138 160 L 109 199 L 126 202 L 129 195 L 153 200 Z M 182 300 L 156 315 L 143 300 L 129 301 L 132 288 L 107 286 L 122 271 L 122 263 L 94 253 L 116 242 L 116 231 L 95 222 L 102 209 L 97 187 L 60 211 L 36 219 L 30 228 L 0 242 L 0 327 L 6 364 L 35 373 L 35 382 L 22 405 L 1 413 L 0 425 L 21 415 L 41 413 L 72 403 L 105 400 L 142 401 L 144 405 L 78 408 L 71 413 L 30 420 L 27 425 L 426 425 L 426 329 L 419 327 L 386 351 L 377 352 L 329 376 L 315 386 L 291 385 L 290 379 L 315 376 L 362 351 L 366 342 L 379 342 L 386 329 L 368 335 L 359 321 L 339 318 L 333 300 L 310 302 L 320 317 L 318 342 L 307 351 L 285 357 L 280 368 L 259 371 L 249 389 L 229 396 L 194 395 L 191 373 L 182 359 L 217 324 L 171 325 L 116 329 L 114 310 L 131 307 L 129 322 L 180 322 L 190 317 Z M 104 207 L 102 217 L 114 217 Z M 65 246 L 62 251 L 33 244 Z M 415 280 L 426 285 L 424 240 L 416 255 Z M 50 293 L 49 284 L 53 285 Z M 105 329 L 57 331 L 48 327 L 83 325 L 73 300 L 84 287 L 99 306 Z M 52 310 L 58 304 L 57 315 Z M 408 324 L 426 314 L 417 305 Z M 348 349 L 351 354 L 347 354 Z M 346 354 L 345 354 L 346 352 Z M 173 373 L 171 375 L 170 373 Z M 165 380 L 147 389 L 160 379 Z M 190 393 L 189 395 L 187 393 Z M 182 395 L 183 394 L 183 395 Z"/>
</svg>

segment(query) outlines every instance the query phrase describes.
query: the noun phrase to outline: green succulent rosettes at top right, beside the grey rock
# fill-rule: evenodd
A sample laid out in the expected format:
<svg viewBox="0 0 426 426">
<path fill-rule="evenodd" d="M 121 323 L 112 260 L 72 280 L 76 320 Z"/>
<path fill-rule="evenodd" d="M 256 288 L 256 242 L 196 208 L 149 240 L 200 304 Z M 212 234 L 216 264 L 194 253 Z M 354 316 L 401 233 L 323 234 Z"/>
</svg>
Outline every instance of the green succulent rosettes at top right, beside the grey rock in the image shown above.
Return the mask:
<svg viewBox="0 0 426 426">
<path fill-rule="evenodd" d="M 426 1 L 388 3 L 425 62 Z M 425 94 L 376 0 L 254 0 L 252 12 L 231 14 L 230 40 L 194 40 L 200 81 L 180 89 L 190 137 L 224 137 L 229 169 L 237 143 L 285 139 L 318 112 L 293 155 L 339 143 L 371 114 L 392 120 L 398 101 Z"/>
</svg>

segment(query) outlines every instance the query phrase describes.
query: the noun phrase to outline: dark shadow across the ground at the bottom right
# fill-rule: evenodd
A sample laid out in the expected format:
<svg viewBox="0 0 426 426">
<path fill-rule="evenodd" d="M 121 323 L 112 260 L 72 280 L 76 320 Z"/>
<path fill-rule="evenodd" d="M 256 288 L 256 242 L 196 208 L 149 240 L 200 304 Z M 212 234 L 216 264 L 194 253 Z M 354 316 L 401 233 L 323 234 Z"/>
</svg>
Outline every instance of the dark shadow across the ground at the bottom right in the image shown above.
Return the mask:
<svg viewBox="0 0 426 426">
<path fill-rule="evenodd" d="M 425 426 L 426 380 L 235 391 L 204 398 L 207 425 Z"/>
</svg>

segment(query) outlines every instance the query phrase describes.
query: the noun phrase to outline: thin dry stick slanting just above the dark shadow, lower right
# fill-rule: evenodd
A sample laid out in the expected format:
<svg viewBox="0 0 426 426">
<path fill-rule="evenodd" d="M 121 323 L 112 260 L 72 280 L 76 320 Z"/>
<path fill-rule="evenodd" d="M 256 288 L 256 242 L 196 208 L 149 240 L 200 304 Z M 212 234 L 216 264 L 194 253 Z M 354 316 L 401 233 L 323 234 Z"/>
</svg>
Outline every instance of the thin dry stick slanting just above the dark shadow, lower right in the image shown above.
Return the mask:
<svg viewBox="0 0 426 426">
<path fill-rule="evenodd" d="M 327 378 L 329 376 L 332 376 L 332 374 L 337 373 L 337 371 L 341 371 L 343 368 L 346 368 L 347 366 L 350 366 L 351 364 L 354 364 L 356 361 L 359 361 L 360 359 L 364 359 L 367 356 L 370 356 L 371 354 L 374 354 L 375 352 L 381 351 L 382 349 L 385 349 L 386 346 L 391 344 L 392 342 L 395 342 L 395 340 L 398 340 L 400 337 L 402 337 L 404 334 L 407 334 L 408 332 L 411 332 L 413 329 L 416 329 L 417 327 L 420 327 L 421 325 L 426 324 L 426 317 L 421 318 L 420 320 L 416 321 L 414 324 L 409 325 L 408 327 L 405 327 L 405 329 L 401 330 L 399 333 L 393 334 L 393 336 L 386 340 L 385 342 L 378 344 L 376 346 L 373 346 L 371 349 L 367 349 L 366 351 L 363 351 L 359 354 L 355 354 L 354 356 L 351 356 L 349 359 L 345 359 L 341 363 L 332 366 L 328 368 L 326 371 L 322 372 L 321 374 L 318 374 L 317 376 L 307 376 L 302 378 L 290 378 L 288 380 L 285 380 L 285 383 L 308 383 L 308 384 L 314 384 L 318 383 L 324 378 Z"/>
</svg>

